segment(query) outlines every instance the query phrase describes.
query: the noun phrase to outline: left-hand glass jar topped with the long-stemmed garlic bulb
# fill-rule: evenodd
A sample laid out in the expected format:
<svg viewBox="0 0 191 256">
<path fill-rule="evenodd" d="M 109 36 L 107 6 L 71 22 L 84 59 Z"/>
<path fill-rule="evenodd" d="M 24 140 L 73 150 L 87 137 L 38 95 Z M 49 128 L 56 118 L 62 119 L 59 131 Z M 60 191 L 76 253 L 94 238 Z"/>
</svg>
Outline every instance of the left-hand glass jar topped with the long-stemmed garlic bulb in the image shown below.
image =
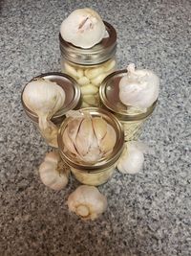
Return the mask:
<svg viewBox="0 0 191 256">
<path fill-rule="evenodd" d="M 57 148 L 57 132 L 66 112 L 78 109 L 81 105 L 80 88 L 66 74 L 46 73 L 33 78 L 24 86 L 21 102 L 45 141 Z"/>
</svg>

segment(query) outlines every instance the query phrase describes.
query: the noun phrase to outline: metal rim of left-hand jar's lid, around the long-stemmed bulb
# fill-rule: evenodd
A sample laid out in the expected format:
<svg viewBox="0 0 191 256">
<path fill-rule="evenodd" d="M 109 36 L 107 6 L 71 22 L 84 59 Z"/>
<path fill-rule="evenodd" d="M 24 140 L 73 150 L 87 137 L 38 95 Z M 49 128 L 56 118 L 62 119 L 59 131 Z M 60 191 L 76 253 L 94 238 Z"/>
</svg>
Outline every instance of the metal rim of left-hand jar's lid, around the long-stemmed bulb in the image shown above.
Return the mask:
<svg viewBox="0 0 191 256">
<path fill-rule="evenodd" d="M 63 90 L 64 90 L 64 87 L 63 87 L 64 82 L 68 81 L 68 82 L 70 82 L 70 84 L 73 85 L 73 90 L 74 90 L 74 95 L 72 96 L 73 100 L 68 105 L 62 106 L 56 113 L 53 114 L 53 117 L 52 117 L 53 122 L 56 122 L 56 120 L 59 119 L 60 117 L 64 116 L 67 111 L 74 109 L 79 104 L 80 97 L 81 97 L 80 87 L 77 84 L 77 82 L 69 75 L 60 73 L 60 72 L 48 72 L 48 73 L 43 73 L 43 74 L 40 74 L 40 75 L 32 78 L 31 81 L 35 81 L 37 79 L 47 79 L 49 81 L 55 81 L 57 83 L 57 85 L 59 85 Z M 61 82 L 57 81 L 58 79 L 60 81 L 62 81 L 62 84 L 61 84 Z M 31 81 L 29 81 L 29 82 L 31 82 Z M 22 89 L 21 103 L 23 105 L 23 108 L 24 108 L 26 114 L 30 118 L 32 118 L 32 121 L 34 121 L 35 123 L 38 123 L 37 114 L 35 112 L 33 112 L 23 101 L 23 93 L 24 93 L 24 90 L 25 90 L 26 86 L 28 85 L 28 83 L 26 83 L 24 88 Z M 66 93 L 66 97 L 67 97 L 67 90 L 64 90 L 64 92 Z"/>
</svg>

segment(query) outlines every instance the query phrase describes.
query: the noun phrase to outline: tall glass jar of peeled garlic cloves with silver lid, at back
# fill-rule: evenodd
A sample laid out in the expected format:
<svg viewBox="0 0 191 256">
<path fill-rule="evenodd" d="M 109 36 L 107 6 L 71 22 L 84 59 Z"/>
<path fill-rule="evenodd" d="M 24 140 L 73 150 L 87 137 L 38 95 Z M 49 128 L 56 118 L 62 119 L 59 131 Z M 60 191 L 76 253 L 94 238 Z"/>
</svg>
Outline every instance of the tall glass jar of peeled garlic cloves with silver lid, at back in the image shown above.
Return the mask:
<svg viewBox="0 0 191 256">
<path fill-rule="evenodd" d="M 105 22 L 107 37 L 89 49 L 75 47 L 59 35 L 62 72 L 72 76 L 81 88 L 82 107 L 98 106 L 98 87 L 117 68 L 117 33 Z"/>
</svg>

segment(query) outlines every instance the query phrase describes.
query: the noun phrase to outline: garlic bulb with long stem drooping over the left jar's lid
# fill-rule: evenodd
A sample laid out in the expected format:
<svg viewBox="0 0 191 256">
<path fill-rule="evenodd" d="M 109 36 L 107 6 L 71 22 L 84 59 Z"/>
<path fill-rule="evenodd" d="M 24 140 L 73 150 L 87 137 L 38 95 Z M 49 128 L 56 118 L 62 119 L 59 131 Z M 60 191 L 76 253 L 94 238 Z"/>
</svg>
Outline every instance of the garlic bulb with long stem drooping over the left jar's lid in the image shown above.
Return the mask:
<svg viewBox="0 0 191 256">
<path fill-rule="evenodd" d="M 56 82 L 38 79 L 30 81 L 23 92 L 23 101 L 38 116 L 39 128 L 53 147 L 57 147 L 57 128 L 51 122 L 65 102 L 65 92 Z"/>
</svg>

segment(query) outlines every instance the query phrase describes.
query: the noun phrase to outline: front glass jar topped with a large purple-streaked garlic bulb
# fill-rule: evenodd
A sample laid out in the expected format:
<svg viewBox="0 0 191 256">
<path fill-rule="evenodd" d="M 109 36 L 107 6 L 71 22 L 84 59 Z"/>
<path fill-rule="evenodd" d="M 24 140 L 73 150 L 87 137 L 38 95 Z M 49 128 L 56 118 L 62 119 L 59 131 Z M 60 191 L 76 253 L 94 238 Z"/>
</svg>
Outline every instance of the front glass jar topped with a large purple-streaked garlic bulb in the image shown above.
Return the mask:
<svg viewBox="0 0 191 256">
<path fill-rule="evenodd" d="M 70 111 L 58 131 L 58 149 L 75 178 L 100 185 L 115 172 L 124 146 L 120 122 L 108 111 L 87 107 Z"/>
</svg>

